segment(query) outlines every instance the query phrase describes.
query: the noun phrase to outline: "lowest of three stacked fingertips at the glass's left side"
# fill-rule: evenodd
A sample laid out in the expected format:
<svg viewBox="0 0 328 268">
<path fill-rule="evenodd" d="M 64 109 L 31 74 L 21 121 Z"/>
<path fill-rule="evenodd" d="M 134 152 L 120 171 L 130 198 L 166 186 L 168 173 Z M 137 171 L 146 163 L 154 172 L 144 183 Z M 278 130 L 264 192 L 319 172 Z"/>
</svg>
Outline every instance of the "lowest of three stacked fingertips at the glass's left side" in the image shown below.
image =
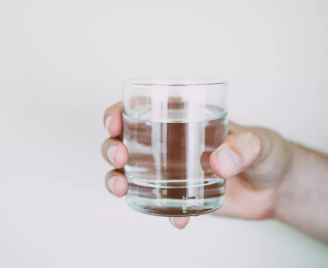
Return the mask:
<svg viewBox="0 0 328 268">
<path fill-rule="evenodd" d="M 129 188 L 127 178 L 119 170 L 112 170 L 107 173 L 105 186 L 108 192 L 116 197 L 125 196 Z"/>
</svg>

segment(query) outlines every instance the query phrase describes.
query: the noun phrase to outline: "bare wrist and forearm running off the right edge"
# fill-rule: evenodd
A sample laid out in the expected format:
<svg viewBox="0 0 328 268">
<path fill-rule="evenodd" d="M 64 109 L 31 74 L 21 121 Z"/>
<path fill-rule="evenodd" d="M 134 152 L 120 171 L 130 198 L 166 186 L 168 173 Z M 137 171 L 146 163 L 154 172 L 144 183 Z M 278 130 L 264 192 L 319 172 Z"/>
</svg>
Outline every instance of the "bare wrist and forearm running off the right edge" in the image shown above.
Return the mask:
<svg viewBox="0 0 328 268">
<path fill-rule="evenodd" d="M 291 146 L 293 160 L 277 189 L 274 218 L 328 243 L 328 157 Z"/>
</svg>

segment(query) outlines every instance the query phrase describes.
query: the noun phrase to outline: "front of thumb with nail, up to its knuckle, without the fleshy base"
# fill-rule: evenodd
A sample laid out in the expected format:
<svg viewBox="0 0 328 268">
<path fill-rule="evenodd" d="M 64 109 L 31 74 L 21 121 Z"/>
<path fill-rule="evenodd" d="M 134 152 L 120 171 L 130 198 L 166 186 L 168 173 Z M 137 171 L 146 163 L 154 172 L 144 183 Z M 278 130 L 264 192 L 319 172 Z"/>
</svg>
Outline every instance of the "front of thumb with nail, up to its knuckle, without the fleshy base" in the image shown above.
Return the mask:
<svg viewBox="0 0 328 268">
<path fill-rule="evenodd" d="M 252 132 L 236 132 L 211 154 L 209 163 L 217 176 L 228 178 L 247 169 L 260 150 L 261 141 Z"/>
</svg>

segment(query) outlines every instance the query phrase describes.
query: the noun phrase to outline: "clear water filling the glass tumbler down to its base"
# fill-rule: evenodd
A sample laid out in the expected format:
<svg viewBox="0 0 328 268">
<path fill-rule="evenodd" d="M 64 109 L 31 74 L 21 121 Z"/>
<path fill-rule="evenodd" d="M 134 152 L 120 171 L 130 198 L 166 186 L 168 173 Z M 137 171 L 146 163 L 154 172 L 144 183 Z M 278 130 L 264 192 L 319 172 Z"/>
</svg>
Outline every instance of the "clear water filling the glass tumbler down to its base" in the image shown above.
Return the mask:
<svg viewBox="0 0 328 268">
<path fill-rule="evenodd" d="M 227 137 L 227 123 L 227 112 L 213 106 L 205 113 L 170 109 L 156 114 L 139 108 L 124 114 L 128 204 L 162 216 L 199 215 L 220 208 L 225 180 L 212 173 L 209 156 Z"/>
</svg>

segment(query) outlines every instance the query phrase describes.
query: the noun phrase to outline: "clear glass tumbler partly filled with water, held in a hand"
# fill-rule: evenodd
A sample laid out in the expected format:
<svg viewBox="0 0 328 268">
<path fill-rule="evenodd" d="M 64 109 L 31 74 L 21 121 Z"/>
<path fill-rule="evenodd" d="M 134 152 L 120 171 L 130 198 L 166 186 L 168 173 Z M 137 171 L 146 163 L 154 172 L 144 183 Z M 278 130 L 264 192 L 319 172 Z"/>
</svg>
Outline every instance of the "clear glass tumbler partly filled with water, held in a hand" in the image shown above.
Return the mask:
<svg viewBox="0 0 328 268">
<path fill-rule="evenodd" d="M 123 86 L 129 206 L 175 217 L 220 208 L 225 180 L 209 156 L 227 137 L 227 82 L 149 78 Z"/>
</svg>

